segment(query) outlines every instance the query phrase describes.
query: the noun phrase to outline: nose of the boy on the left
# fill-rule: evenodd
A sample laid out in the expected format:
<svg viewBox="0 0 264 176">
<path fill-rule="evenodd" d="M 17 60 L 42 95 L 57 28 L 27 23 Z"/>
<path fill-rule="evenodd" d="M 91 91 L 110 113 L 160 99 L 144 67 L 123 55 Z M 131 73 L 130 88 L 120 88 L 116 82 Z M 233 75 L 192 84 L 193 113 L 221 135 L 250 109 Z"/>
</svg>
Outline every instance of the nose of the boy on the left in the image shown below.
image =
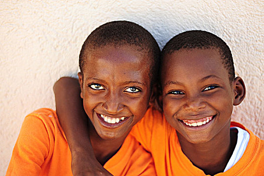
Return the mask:
<svg viewBox="0 0 264 176">
<path fill-rule="evenodd" d="M 109 114 L 117 114 L 124 109 L 122 98 L 118 93 L 109 93 L 105 96 L 102 108 Z"/>
</svg>

